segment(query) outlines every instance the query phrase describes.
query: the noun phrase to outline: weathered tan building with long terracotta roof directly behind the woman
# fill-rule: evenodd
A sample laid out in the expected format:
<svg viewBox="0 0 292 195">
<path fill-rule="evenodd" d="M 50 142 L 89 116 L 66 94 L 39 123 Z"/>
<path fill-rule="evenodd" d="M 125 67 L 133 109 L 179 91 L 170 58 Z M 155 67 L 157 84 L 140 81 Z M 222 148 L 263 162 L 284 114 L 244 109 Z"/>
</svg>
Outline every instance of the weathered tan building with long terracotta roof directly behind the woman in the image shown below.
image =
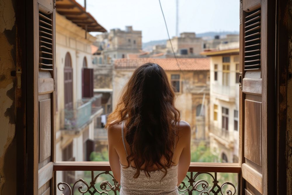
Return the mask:
<svg viewBox="0 0 292 195">
<path fill-rule="evenodd" d="M 159 64 L 175 86 L 175 105 L 181 119 L 190 123 L 192 140 L 196 143 L 208 141 L 209 137 L 209 74 L 208 58 L 180 58 L 178 67 L 174 58 L 132 58 L 118 59 L 114 62 L 113 107 L 117 103 L 121 89 L 135 68 L 147 62 Z"/>
</svg>

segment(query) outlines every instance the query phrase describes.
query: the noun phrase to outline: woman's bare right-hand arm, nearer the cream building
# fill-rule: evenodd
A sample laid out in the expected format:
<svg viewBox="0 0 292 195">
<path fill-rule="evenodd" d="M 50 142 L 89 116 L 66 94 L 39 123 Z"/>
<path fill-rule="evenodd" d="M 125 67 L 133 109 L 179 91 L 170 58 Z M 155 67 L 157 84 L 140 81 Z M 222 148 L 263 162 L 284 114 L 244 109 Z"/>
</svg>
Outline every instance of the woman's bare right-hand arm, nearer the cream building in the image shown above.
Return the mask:
<svg viewBox="0 0 292 195">
<path fill-rule="evenodd" d="M 187 123 L 187 122 L 186 122 Z M 184 125 L 184 127 L 181 130 L 184 148 L 182 153 L 180 154 L 180 161 L 178 164 L 178 185 L 185 179 L 185 176 L 187 175 L 187 171 L 190 166 L 191 162 L 191 127 L 187 123 L 187 125 Z"/>
</svg>

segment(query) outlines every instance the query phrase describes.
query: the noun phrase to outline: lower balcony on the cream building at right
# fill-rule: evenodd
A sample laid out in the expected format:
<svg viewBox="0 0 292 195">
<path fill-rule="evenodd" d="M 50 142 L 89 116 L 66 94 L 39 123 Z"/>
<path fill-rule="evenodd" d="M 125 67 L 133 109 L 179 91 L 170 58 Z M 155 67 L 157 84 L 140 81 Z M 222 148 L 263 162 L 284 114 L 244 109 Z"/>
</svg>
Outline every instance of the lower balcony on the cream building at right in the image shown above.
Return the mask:
<svg viewBox="0 0 292 195">
<path fill-rule="evenodd" d="M 234 147 L 234 133 L 228 130 L 216 127 L 214 124 L 210 125 L 210 136 L 213 136 L 221 144 L 227 148 Z"/>
</svg>

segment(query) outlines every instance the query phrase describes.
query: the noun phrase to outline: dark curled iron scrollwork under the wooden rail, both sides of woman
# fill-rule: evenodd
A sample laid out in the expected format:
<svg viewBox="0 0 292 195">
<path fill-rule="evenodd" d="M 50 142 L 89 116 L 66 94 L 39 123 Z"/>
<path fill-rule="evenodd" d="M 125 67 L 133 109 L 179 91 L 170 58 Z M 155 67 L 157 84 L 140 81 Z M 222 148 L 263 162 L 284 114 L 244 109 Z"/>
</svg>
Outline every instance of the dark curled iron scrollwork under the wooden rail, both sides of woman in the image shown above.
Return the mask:
<svg viewBox="0 0 292 195">
<path fill-rule="evenodd" d="M 109 181 L 103 181 L 100 184 L 100 189 L 102 191 L 99 191 L 96 187 L 96 181 L 100 175 L 110 175 L 112 177 L 113 184 L 111 184 Z M 205 176 L 209 177 L 209 180 L 212 180 L 211 183 L 208 182 L 207 179 L 199 179 L 199 176 Z M 217 173 L 215 172 L 214 175 L 212 175 L 209 172 L 190 172 L 190 176 L 186 175 L 188 179 L 189 185 L 185 184 L 185 182 L 182 182 L 180 186 L 178 187 L 179 192 L 183 192 L 180 195 L 191 195 L 193 192 L 197 191 L 200 195 L 206 194 L 214 194 L 214 195 L 235 195 L 236 194 L 236 187 L 231 182 L 224 182 L 223 184 L 219 185 L 219 181 L 217 179 Z M 72 188 L 69 184 L 65 182 L 58 183 L 57 187 L 60 191 L 64 191 L 65 187 L 69 189 L 69 195 L 74 195 L 74 189 L 77 183 L 82 183 L 78 187 L 78 192 L 81 194 L 89 193 L 89 194 L 109 194 L 111 191 L 115 195 L 117 192 L 120 191 L 120 184 L 117 182 L 117 180 L 114 179 L 114 176 L 109 173 L 109 171 L 101 172 L 98 175 L 94 177 L 94 172 L 91 171 L 91 182 L 88 184 L 85 180 L 79 179 L 76 182 L 74 182 Z M 60 188 L 60 185 L 62 187 Z M 209 187 L 210 186 L 210 187 Z M 226 190 L 223 190 L 223 188 Z M 82 190 L 83 188 L 86 188 Z M 231 188 L 231 189 L 230 189 Z M 187 193 L 187 194 L 186 194 Z M 62 194 L 64 195 L 64 194 Z M 67 194 L 65 194 L 67 195 Z"/>
</svg>

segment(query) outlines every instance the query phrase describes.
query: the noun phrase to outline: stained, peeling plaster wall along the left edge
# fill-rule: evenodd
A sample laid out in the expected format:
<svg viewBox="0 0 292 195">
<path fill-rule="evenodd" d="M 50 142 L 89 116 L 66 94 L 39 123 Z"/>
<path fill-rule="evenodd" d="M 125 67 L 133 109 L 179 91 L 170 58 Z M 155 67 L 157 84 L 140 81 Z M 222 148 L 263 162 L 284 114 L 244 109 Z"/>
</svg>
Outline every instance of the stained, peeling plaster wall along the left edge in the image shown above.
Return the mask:
<svg viewBox="0 0 292 195">
<path fill-rule="evenodd" d="M 0 194 L 16 194 L 14 6 L 0 0 Z"/>
</svg>

